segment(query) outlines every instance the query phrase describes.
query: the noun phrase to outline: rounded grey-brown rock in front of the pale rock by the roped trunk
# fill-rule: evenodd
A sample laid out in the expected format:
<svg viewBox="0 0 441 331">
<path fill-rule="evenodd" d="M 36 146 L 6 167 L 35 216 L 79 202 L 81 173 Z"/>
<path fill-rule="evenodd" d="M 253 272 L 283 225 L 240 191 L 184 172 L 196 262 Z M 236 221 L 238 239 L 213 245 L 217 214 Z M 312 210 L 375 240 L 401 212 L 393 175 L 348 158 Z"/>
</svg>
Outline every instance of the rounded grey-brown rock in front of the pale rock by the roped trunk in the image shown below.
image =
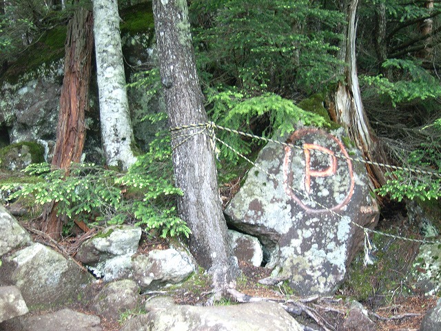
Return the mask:
<svg viewBox="0 0 441 331">
<path fill-rule="evenodd" d="M 97 314 L 107 319 L 119 319 L 126 310 L 134 310 L 141 299 L 139 287 L 134 281 L 114 281 L 96 294 L 92 307 Z"/>
</svg>

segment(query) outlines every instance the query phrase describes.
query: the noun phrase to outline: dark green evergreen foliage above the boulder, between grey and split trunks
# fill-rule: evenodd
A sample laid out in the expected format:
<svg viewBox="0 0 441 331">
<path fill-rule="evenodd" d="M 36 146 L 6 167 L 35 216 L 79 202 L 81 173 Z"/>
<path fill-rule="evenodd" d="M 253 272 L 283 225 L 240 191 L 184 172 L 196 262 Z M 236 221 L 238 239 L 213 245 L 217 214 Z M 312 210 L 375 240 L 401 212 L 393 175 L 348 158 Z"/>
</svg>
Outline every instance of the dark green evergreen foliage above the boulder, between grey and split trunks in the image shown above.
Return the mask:
<svg viewBox="0 0 441 331">
<path fill-rule="evenodd" d="M 311 92 L 336 78 L 334 30 L 343 15 L 316 1 L 196 0 L 190 14 L 207 86 L 236 86 L 254 97 L 276 89 Z"/>
</svg>

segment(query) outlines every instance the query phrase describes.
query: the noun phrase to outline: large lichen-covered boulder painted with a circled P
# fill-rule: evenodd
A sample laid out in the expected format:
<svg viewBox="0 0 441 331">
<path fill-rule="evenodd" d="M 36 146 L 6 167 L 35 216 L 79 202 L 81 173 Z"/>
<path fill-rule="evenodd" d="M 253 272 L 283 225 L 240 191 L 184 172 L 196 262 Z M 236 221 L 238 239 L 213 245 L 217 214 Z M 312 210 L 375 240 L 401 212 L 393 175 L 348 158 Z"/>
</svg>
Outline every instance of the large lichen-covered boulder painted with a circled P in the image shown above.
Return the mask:
<svg viewBox="0 0 441 331">
<path fill-rule="evenodd" d="M 345 147 L 342 128 L 329 134 L 298 128 L 291 147 L 268 143 L 225 212 L 239 230 L 271 252 L 272 276 L 298 294 L 332 294 L 363 239 L 354 223 L 372 228 L 378 205 L 365 165 Z"/>
</svg>

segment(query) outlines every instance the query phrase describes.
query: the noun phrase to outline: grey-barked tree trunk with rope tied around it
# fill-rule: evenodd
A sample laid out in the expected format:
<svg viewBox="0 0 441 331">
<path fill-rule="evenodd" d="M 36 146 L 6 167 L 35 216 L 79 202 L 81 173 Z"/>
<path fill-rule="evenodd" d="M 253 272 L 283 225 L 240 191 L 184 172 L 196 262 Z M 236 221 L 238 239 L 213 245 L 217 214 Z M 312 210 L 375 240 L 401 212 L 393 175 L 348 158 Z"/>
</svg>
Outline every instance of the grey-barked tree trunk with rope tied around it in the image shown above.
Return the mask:
<svg viewBox="0 0 441 331">
<path fill-rule="evenodd" d="M 189 32 L 187 3 L 154 0 L 153 12 L 159 67 L 170 127 L 207 121 Z M 189 248 L 196 261 L 213 274 L 216 290 L 234 285 L 237 263 L 227 242 L 217 185 L 216 163 L 201 128 L 178 132 L 172 139 L 176 185 L 184 195 L 178 201 L 181 218 L 192 230 Z"/>
</svg>

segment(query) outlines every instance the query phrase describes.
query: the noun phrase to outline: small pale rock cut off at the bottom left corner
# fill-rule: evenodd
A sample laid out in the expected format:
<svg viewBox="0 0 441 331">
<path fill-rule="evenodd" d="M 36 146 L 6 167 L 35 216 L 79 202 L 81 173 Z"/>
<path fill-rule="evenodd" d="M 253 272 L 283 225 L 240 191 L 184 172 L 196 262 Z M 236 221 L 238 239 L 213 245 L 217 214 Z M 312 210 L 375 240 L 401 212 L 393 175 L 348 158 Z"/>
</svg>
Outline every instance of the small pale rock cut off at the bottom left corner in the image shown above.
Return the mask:
<svg viewBox="0 0 441 331">
<path fill-rule="evenodd" d="M 21 292 L 15 286 L 0 286 L 0 323 L 28 312 Z"/>
</svg>

